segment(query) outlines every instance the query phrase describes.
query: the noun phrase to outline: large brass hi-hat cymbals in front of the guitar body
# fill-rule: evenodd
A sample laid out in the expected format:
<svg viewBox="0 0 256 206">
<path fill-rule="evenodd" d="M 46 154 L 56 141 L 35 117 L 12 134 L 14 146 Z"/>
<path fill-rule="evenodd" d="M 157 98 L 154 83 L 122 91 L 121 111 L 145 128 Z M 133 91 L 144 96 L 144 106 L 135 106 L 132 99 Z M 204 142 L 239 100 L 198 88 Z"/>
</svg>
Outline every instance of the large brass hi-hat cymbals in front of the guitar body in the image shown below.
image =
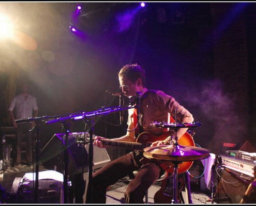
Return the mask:
<svg viewBox="0 0 256 206">
<path fill-rule="evenodd" d="M 201 147 L 182 145 L 160 145 L 144 148 L 143 156 L 165 161 L 194 161 L 209 157 L 209 150 Z"/>
</svg>

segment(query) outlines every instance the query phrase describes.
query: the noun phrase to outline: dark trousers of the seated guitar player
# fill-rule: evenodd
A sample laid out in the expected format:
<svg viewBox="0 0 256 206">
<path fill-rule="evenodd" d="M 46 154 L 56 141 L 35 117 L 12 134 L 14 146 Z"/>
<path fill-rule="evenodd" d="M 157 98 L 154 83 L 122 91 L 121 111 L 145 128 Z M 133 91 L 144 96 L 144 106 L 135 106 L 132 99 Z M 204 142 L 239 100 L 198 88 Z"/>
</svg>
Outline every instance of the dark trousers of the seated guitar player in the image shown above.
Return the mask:
<svg viewBox="0 0 256 206">
<path fill-rule="evenodd" d="M 108 186 L 131 174 L 134 170 L 139 170 L 139 172 L 126 188 L 125 203 L 144 203 L 143 198 L 148 188 L 158 179 L 161 169 L 153 162 L 139 168 L 134 152 L 110 162 L 93 173 L 92 198 L 90 198 L 92 202 L 87 200 L 86 203 L 106 203 Z"/>
</svg>

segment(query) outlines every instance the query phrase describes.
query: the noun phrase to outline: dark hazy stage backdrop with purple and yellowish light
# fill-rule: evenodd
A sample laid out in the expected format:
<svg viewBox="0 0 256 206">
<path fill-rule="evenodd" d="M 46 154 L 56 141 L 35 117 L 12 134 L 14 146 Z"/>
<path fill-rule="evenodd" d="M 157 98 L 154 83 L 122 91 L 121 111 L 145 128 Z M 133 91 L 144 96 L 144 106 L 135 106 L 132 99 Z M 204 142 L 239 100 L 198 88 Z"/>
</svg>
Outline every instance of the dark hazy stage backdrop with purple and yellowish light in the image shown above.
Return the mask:
<svg viewBox="0 0 256 206">
<path fill-rule="evenodd" d="M 29 49 L 0 40 L 1 125 L 11 126 L 10 81 L 31 81 L 39 116 L 91 112 L 119 105 L 106 90 L 118 92 L 120 68 L 138 63 L 146 70 L 148 89 L 172 95 L 202 124 L 194 128 L 195 143 L 213 153 L 248 141 L 255 146 L 255 3 L 79 4 L 77 16 L 75 2 L 0 4 L 37 45 Z M 118 113 L 92 119 L 96 135 L 116 138 L 126 132 Z M 84 126 L 72 122 L 70 130 Z M 41 145 L 61 131 L 60 123 L 43 125 Z"/>
</svg>

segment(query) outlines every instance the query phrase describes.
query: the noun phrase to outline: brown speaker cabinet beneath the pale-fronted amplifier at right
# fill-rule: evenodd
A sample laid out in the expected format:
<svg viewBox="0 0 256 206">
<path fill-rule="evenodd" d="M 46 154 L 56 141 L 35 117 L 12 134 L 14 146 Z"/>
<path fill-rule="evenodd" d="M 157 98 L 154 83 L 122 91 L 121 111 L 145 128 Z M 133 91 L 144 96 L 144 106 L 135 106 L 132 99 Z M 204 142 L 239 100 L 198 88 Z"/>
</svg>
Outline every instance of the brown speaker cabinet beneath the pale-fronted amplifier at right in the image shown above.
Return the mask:
<svg viewBox="0 0 256 206">
<path fill-rule="evenodd" d="M 240 174 L 236 173 L 236 171 L 232 171 L 232 173 L 233 176 L 226 170 L 223 170 L 223 173 L 221 173 L 222 181 L 219 181 L 217 183 L 216 196 L 217 199 L 224 199 L 225 197 L 227 197 L 229 200 L 220 200 L 218 201 L 218 203 L 238 204 L 240 203 L 247 191 L 248 184 L 245 184 L 243 181 L 239 181 L 239 178 L 241 178 Z M 236 174 L 238 178 L 235 178 L 234 174 Z"/>
</svg>

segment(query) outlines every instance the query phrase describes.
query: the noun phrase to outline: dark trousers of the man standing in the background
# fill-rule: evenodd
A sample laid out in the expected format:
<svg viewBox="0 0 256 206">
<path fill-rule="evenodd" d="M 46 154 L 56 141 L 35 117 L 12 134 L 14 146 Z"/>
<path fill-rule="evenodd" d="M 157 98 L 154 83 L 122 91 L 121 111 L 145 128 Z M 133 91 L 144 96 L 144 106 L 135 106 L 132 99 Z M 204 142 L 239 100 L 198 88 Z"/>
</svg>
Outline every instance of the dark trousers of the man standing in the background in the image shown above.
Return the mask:
<svg viewBox="0 0 256 206">
<path fill-rule="evenodd" d="M 32 162 L 33 160 L 33 137 L 32 132 L 29 132 L 31 129 L 31 123 L 22 123 L 18 124 L 18 128 L 16 130 L 16 152 L 17 158 L 16 163 L 21 163 L 21 148 L 22 148 L 22 139 L 23 134 L 25 134 L 25 141 L 26 141 L 26 160 L 27 162 Z"/>
</svg>

